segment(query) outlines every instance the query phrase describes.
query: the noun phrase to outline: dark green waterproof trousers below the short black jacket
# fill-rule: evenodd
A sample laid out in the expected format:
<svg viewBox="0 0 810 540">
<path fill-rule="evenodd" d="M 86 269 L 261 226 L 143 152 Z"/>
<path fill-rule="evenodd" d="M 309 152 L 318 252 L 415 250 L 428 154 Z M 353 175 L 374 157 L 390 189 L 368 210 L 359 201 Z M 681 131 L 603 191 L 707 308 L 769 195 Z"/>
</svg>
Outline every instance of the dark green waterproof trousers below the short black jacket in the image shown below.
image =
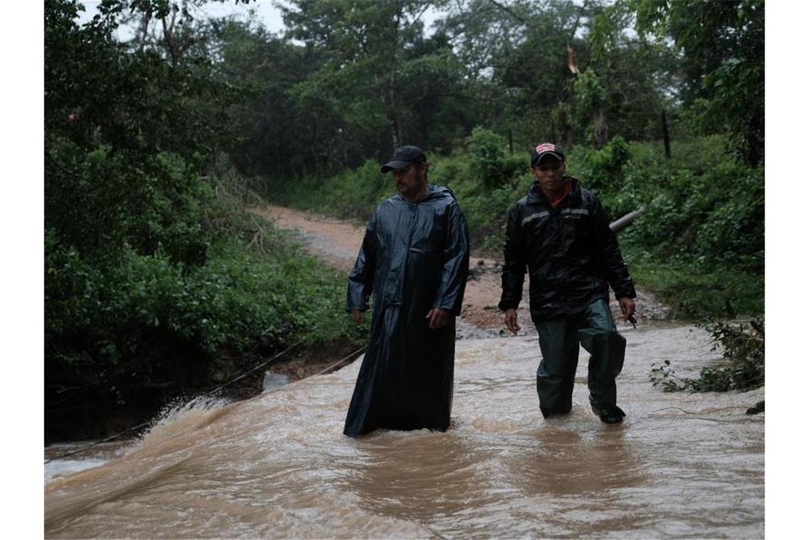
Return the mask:
<svg viewBox="0 0 810 540">
<path fill-rule="evenodd" d="M 544 417 L 571 410 L 579 346 L 590 353 L 588 390 L 596 415 L 616 409 L 616 376 L 625 364 L 625 338 L 616 332 L 608 302 L 596 300 L 584 313 L 534 321 L 543 359 L 537 395 Z"/>
</svg>

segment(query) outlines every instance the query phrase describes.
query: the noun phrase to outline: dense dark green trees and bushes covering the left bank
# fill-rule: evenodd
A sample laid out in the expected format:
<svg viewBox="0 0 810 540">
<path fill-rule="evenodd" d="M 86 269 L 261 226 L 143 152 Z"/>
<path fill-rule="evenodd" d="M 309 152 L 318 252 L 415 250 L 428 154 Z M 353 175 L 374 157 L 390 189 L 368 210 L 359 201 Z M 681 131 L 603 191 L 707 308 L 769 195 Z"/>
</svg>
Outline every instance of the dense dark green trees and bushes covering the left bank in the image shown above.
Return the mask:
<svg viewBox="0 0 810 540">
<path fill-rule="evenodd" d="M 132 2 L 173 18 L 165 6 Z M 221 125 L 243 90 L 205 48 L 113 39 L 128 7 L 102 2 L 79 27 L 76 2 L 45 3 L 49 438 L 98 436 L 124 413 L 137 423 L 300 339 L 363 330 L 335 317 L 339 273 L 226 194 Z"/>
</svg>

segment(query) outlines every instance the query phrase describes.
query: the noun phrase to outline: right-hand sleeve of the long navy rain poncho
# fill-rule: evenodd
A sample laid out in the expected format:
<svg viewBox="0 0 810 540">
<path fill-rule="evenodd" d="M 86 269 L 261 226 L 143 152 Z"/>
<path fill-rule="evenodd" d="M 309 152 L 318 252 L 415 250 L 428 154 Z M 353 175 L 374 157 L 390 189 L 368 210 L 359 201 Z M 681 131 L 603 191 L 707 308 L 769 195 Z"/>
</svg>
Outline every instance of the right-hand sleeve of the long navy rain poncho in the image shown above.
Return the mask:
<svg viewBox="0 0 810 540">
<path fill-rule="evenodd" d="M 467 271 L 470 268 L 470 238 L 467 220 L 458 204 L 453 205 L 449 217 L 445 236 L 445 263 L 433 307 L 447 309 L 458 317 L 461 315 Z"/>
</svg>

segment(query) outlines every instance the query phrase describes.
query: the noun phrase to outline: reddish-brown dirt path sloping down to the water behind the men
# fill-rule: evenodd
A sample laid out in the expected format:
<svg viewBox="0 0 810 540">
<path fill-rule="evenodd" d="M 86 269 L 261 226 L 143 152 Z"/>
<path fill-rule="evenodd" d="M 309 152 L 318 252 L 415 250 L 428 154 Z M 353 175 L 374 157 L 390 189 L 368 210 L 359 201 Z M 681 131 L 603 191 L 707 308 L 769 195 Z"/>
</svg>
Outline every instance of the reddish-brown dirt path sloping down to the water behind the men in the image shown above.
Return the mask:
<svg viewBox="0 0 810 540">
<path fill-rule="evenodd" d="M 364 226 L 284 206 L 267 205 L 250 211 L 270 220 L 275 227 L 297 231 L 308 253 L 345 270 L 347 274 L 352 269 L 363 241 Z M 470 267 L 471 279 L 467 281 L 461 321 L 457 324 L 458 338 L 490 338 L 507 334 L 501 311 L 497 308 L 501 299 L 501 261 L 472 253 Z M 671 310 L 652 294 L 638 290 L 637 294 L 637 319 L 640 324 L 670 318 Z M 527 279 L 523 285 L 523 298 L 528 297 Z M 611 300 L 611 308 L 618 321 L 620 311 L 615 299 Z M 534 334 L 527 301 L 518 308 L 518 321 L 522 321 L 522 330 L 518 335 Z"/>
</svg>

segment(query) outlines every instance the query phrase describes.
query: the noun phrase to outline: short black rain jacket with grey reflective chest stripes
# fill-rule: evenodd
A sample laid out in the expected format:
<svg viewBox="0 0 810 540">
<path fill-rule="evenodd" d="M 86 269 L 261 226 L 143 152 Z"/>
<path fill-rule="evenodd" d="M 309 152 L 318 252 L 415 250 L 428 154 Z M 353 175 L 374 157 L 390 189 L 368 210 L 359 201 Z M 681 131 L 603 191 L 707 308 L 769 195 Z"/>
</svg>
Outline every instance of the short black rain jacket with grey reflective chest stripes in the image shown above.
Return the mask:
<svg viewBox="0 0 810 540">
<path fill-rule="evenodd" d="M 535 182 L 509 210 L 498 304 L 502 310 L 518 308 L 527 267 L 533 320 L 582 313 L 593 301 L 608 300 L 608 283 L 616 298 L 635 298 L 601 203 L 576 178 L 570 180 L 571 192 L 556 207 Z"/>
</svg>

